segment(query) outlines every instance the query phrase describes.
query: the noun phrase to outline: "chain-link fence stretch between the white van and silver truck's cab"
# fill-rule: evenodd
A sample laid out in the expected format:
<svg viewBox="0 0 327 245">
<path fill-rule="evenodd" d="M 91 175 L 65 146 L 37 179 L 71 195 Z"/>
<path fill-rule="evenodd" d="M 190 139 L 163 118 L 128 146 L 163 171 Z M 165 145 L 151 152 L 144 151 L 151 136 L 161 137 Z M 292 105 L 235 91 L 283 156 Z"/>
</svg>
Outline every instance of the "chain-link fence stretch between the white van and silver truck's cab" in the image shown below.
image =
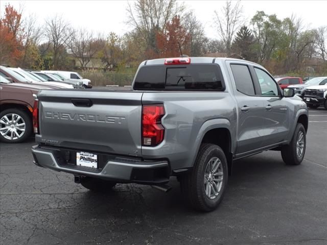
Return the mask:
<svg viewBox="0 0 327 245">
<path fill-rule="evenodd" d="M 80 71 L 83 78 L 91 80 L 93 86 L 131 86 L 134 74 L 103 72 L 103 71 Z"/>
</svg>

